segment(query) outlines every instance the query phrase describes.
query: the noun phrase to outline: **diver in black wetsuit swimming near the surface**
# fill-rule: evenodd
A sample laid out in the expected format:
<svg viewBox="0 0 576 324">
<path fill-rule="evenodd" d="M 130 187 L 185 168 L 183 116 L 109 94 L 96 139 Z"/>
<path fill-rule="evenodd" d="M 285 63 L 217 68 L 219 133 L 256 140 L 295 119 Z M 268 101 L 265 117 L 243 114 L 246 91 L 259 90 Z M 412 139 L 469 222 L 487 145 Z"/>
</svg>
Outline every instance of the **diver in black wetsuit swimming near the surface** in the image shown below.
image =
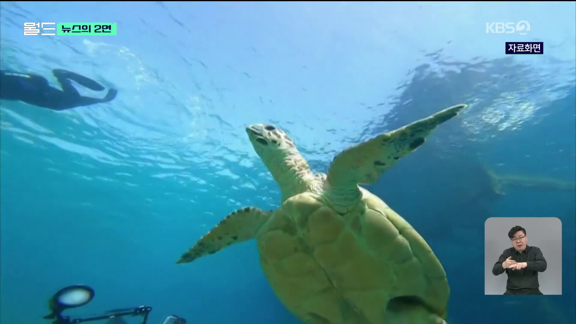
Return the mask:
<svg viewBox="0 0 576 324">
<path fill-rule="evenodd" d="M 107 103 L 116 97 L 118 90 L 109 89 L 103 99 L 83 97 L 71 84 L 70 80 L 78 82 L 94 91 L 103 91 L 104 86 L 98 82 L 77 73 L 54 69 L 54 76 L 60 82 L 62 90 L 48 85 L 46 78 L 36 74 L 25 74 L 13 71 L 0 71 L 0 99 L 20 100 L 34 106 L 52 110 L 66 110 L 78 106 L 88 106 L 96 103 Z"/>
</svg>

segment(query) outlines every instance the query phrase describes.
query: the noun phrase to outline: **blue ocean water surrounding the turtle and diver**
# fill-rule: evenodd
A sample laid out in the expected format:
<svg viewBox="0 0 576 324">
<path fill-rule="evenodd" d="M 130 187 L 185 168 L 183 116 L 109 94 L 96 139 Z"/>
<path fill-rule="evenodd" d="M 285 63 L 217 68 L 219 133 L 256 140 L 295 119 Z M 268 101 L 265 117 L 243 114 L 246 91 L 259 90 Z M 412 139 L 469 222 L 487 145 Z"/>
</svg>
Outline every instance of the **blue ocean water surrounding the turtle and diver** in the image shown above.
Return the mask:
<svg viewBox="0 0 576 324">
<path fill-rule="evenodd" d="M 350 145 L 466 103 L 366 187 L 441 260 L 449 323 L 576 323 L 575 192 L 537 180 L 576 181 L 575 12 L 574 2 L 2 2 L 1 69 L 54 86 L 51 70 L 67 69 L 119 93 L 62 112 L 0 101 L 0 322 L 47 323 L 52 293 L 84 283 L 94 300 L 71 315 L 145 304 L 154 324 L 169 314 L 300 323 L 253 241 L 175 264 L 232 210 L 278 206 L 245 126 L 282 127 L 325 172 Z M 486 32 L 521 20 L 528 35 Z M 118 36 L 24 36 L 31 21 L 117 22 Z M 544 54 L 504 54 L 526 40 Z M 499 196 L 487 170 L 534 185 Z M 562 295 L 484 295 L 484 222 L 499 216 L 560 218 Z"/>
</svg>

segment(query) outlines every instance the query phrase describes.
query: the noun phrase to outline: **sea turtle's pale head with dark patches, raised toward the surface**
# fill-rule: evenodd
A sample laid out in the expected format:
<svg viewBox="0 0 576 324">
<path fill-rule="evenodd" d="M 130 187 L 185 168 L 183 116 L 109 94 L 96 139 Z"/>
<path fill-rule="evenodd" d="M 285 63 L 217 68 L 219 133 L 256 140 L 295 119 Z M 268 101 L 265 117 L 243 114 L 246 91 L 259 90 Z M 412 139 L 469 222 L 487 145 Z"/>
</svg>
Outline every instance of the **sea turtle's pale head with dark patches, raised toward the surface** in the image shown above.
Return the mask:
<svg viewBox="0 0 576 324">
<path fill-rule="evenodd" d="M 246 127 L 246 133 L 254 150 L 266 164 L 290 155 L 300 155 L 294 141 L 276 126 L 254 124 Z"/>
</svg>

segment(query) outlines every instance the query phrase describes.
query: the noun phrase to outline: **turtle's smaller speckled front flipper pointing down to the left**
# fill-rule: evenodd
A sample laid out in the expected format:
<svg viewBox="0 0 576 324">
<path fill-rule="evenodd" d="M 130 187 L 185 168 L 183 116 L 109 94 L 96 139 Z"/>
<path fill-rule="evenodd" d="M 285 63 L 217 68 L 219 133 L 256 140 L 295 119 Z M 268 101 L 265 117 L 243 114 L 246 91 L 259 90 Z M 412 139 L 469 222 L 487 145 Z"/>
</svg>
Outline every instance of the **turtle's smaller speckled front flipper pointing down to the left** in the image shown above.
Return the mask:
<svg viewBox="0 0 576 324">
<path fill-rule="evenodd" d="M 272 212 L 257 207 L 238 209 L 202 236 L 176 263 L 188 263 L 207 254 L 214 254 L 234 243 L 255 238 Z"/>
</svg>

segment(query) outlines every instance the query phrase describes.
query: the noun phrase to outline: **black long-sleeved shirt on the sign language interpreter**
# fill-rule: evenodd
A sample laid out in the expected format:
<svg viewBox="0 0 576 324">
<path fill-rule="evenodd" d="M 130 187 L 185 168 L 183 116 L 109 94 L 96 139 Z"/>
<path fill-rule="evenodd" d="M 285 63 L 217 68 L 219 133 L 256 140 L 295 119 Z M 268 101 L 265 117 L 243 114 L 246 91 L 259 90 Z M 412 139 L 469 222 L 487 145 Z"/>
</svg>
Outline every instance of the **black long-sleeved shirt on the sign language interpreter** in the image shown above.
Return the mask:
<svg viewBox="0 0 576 324">
<path fill-rule="evenodd" d="M 516 262 L 526 262 L 526 268 L 520 270 L 503 269 L 502 263 L 508 257 Z M 492 273 L 498 276 L 506 272 L 508 280 L 506 281 L 506 289 L 537 289 L 540 287 L 538 283 L 538 273 L 544 272 L 547 268 L 546 260 L 540 248 L 535 246 L 526 246 L 522 253 L 518 252 L 516 248 L 510 247 L 502 252 L 498 262 L 494 264 Z"/>
</svg>

